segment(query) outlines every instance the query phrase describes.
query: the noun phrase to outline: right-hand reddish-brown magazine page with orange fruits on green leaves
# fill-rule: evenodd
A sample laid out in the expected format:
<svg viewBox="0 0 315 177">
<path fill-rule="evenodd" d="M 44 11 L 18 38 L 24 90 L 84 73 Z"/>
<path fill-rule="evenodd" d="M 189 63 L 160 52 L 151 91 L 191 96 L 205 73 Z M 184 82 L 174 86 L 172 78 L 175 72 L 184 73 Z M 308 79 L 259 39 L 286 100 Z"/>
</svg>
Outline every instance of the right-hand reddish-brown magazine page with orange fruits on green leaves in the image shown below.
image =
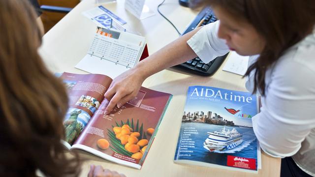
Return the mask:
<svg viewBox="0 0 315 177">
<path fill-rule="evenodd" d="M 104 115 L 108 105 L 104 99 L 72 149 L 140 169 L 171 97 L 142 87 L 134 99 L 110 115 Z"/>
</svg>

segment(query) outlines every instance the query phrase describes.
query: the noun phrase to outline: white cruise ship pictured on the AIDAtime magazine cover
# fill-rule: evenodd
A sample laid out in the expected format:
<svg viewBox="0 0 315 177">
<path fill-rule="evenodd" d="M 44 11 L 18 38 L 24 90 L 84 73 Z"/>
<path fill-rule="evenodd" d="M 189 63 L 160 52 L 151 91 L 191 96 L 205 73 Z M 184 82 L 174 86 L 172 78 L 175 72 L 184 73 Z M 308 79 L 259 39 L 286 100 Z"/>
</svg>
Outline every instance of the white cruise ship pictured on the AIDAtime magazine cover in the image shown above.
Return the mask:
<svg viewBox="0 0 315 177">
<path fill-rule="evenodd" d="M 232 149 L 243 142 L 243 136 L 235 128 L 230 131 L 223 127 L 221 131 L 208 132 L 208 135 L 203 148 L 210 152 Z"/>
</svg>

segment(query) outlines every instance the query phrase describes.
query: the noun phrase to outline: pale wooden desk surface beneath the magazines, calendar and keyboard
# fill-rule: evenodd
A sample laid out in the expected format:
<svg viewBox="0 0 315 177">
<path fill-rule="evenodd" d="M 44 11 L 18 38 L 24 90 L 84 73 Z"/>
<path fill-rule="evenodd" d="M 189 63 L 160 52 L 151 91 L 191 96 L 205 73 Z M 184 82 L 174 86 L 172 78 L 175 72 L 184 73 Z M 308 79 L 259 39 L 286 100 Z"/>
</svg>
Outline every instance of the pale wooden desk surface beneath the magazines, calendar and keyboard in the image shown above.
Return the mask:
<svg viewBox="0 0 315 177">
<path fill-rule="evenodd" d="M 117 0 L 117 3 L 104 4 L 104 6 L 126 20 L 129 29 L 138 31 L 145 36 L 149 53 L 152 54 L 178 37 L 171 25 L 157 12 L 157 5 L 161 1 L 150 0 L 148 5 L 150 9 L 156 12 L 156 15 L 141 21 L 125 11 L 124 0 Z M 82 11 L 95 7 L 94 2 L 95 0 L 83 0 L 43 37 L 44 42 L 40 52 L 45 63 L 53 72 L 85 73 L 74 68 L 74 65 L 86 55 L 94 38 L 94 23 L 81 14 Z M 178 0 L 166 0 L 160 9 L 180 31 L 183 31 L 197 14 L 189 8 L 181 7 Z M 86 161 L 83 165 L 82 177 L 86 177 L 90 168 L 89 164 L 102 165 L 110 170 L 124 173 L 127 177 L 279 177 L 281 160 L 267 156 L 265 153 L 262 153 L 262 170 L 259 170 L 258 175 L 216 168 L 179 165 L 173 162 L 186 91 L 192 85 L 246 90 L 245 81 L 241 76 L 224 72 L 222 67 L 212 77 L 190 75 L 173 68 L 163 70 L 149 77 L 143 83 L 144 87 L 168 92 L 173 94 L 174 97 L 160 124 L 156 139 L 142 169 L 132 169 L 90 155 L 89 158 L 92 160 Z"/>
</svg>

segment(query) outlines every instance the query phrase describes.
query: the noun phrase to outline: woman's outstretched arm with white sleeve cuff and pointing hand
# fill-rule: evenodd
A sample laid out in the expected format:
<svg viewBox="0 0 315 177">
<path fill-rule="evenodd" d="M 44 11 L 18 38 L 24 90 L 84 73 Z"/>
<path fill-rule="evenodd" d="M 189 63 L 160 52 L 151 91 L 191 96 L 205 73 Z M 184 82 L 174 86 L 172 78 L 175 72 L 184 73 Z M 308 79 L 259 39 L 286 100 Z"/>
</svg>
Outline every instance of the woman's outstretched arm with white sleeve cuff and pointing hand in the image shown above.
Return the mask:
<svg viewBox="0 0 315 177">
<path fill-rule="evenodd" d="M 219 26 L 218 21 L 190 31 L 115 78 L 104 95 L 110 100 L 105 114 L 109 114 L 115 105 L 120 108 L 134 98 L 147 77 L 165 68 L 197 56 L 204 62 L 209 62 L 226 54 L 228 47 L 217 35 Z"/>
</svg>

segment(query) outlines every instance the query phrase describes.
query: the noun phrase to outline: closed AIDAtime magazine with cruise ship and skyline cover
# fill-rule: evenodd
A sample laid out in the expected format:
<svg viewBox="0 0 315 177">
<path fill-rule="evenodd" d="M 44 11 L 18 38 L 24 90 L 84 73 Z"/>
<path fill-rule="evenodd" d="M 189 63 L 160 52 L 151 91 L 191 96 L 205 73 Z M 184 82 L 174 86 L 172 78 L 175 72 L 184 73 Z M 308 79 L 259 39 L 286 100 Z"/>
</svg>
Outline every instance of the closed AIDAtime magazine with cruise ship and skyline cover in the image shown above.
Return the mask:
<svg viewBox="0 0 315 177">
<path fill-rule="evenodd" d="M 174 161 L 257 173 L 257 109 L 249 92 L 189 87 Z"/>
</svg>

